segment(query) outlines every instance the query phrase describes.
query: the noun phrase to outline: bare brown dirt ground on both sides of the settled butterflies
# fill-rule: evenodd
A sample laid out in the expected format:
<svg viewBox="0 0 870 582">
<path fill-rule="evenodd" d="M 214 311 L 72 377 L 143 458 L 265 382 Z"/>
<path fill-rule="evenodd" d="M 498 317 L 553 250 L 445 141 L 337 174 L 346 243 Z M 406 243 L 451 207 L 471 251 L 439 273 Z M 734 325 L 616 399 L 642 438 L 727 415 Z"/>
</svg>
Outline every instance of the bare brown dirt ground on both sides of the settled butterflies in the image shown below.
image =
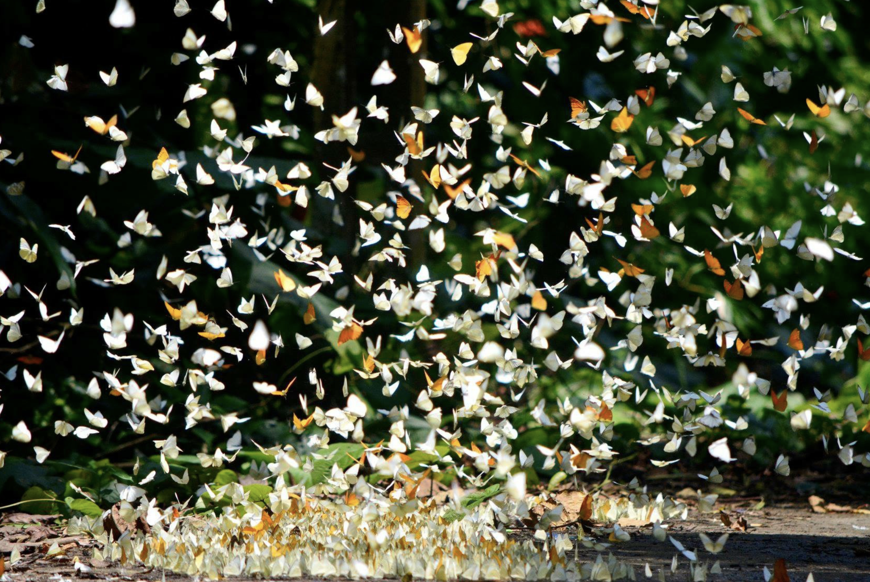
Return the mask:
<svg viewBox="0 0 870 582">
<path fill-rule="evenodd" d="M 723 525 L 717 514 L 701 515 L 690 512 L 686 521 L 672 522 L 669 532 L 679 539 L 686 549 L 699 550 L 700 559 L 713 564 L 713 555 L 705 552 L 699 540 L 700 532 L 717 539 L 724 532 L 731 532 L 725 549 L 715 558 L 719 559 L 721 574 L 711 574 L 710 580 L 727 582 L 761 582 L 763 568 L 773 572 L 773 563 L 785 559 L 791 582 L 804 582 L 813 573 L 816 582 L 870 582 L 870 515 L 855 512 L 813 512 L 806 503 L 782 504 L 758 510 L 735 504 L 728 508 L 734 520 L 746 520 L 747 532 L 740 532 Z M 10 527 L 10 526 L 4 526 Z M 20 526 L 19 531 L 21 529 Z M 6 562 L 4 580 L 15 582 L 44 582 L 59 578 L 86 578 L 100 580 L 182 580 L 170 572 L 142 567 L 125 567 L 107 563 L 92 563 L 90 542 L 64 539 L 63 532 L 50 525 L 42 527 L 43 539 L 19 545 L 23 559 L 14 568 Z M 653 539 L 649 527 L 624 528 L 632 536 L 630 541 L 613 544 L 608 551 L 620 561 L 634 567 L 637 579 L 646 579 L 644 569 L 649 564 L 653 579 L 659 579 L 659 570 L 664 570 L 665 579 L 681 582 L 689 580 L 687 560 L 679 557 L 677 572 L 671 572 L 671 563 L 676 552 L 670 541 Z M 4 534 L 0 528 L 0 537 Z M 20 534 L 19 534 L 20 536 Z M 39 537 L 39 536 L 37 536 Z M 58 540 L 58 538 L 60 538 Z M 8 558 L 10 544 L 14 543 L 10 530 L 5 530 L 5 539 L 0 539 L 0 552 Z M 19 538 L 20 539 L 20 538 Z M 45 552 L 54 541 L 65 548 L 64 553 L 46 558 Z M 580 548 L 580 560 L 592 560 L 592 550 Z M 90 565 L 91 572 L 76 572 L 76 559 Z"/>
</svg>

